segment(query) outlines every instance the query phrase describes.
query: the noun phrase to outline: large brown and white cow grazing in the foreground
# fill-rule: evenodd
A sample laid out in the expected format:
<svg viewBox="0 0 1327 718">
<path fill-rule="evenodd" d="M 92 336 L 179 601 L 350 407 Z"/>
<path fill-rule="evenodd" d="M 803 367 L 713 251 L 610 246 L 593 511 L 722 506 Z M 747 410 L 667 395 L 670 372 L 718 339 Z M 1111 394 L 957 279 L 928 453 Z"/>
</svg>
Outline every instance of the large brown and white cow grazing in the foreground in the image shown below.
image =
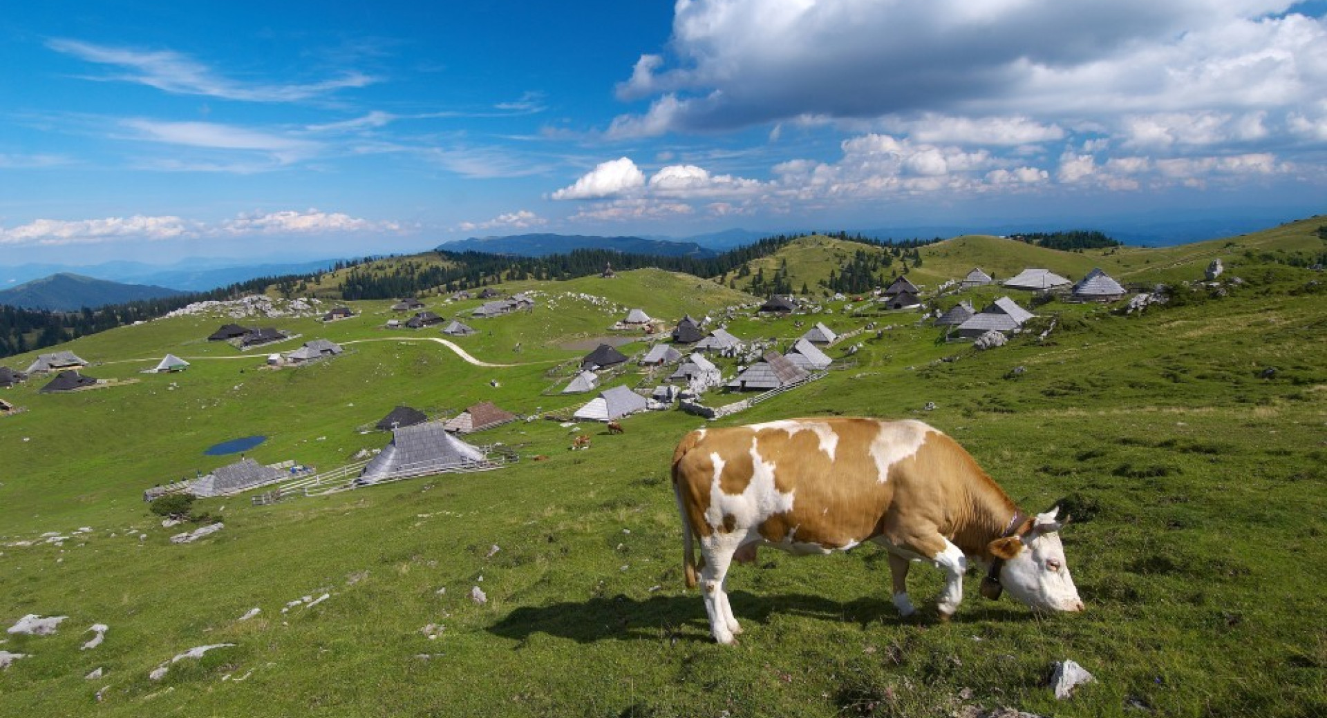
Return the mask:
<svg viewBox="0 0 1327 718">
<path fill-rule="evenodd" d="M 982 593 L 1001 587 L 1036 609 L 1082 611 L 1052 509 L 1026 517 L 953 438 L 921 421 L 791 419 L 697 429 L 673 453 L 673 489 L 683 527 L 687 587 L 697 586 L 693 534 L 701 542 L 705 609 L 714 639 L 742 628 L 726 593 L 730 563 L 760 544 L 795 554 L 847 551 L 874 542 L 889 551 L 893 603 L 913 613 L 906 576 L 929 560 L 947 583 L 940 612 L 962 601 L 967 559 L 993 566 Z"/>
</svg>

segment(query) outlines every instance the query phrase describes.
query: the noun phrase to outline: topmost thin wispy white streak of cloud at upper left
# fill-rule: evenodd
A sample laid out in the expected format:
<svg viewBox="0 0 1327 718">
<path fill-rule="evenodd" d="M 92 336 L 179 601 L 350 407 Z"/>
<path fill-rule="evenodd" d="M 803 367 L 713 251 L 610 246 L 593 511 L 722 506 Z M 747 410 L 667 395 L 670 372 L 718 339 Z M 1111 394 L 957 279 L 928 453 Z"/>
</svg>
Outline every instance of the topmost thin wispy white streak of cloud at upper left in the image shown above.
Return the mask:
<svg viewBox="0 0 1327 718">
<path fill-rule="evenodd" d="M 88 79 L 137 82 L 166 93 L 245 102 L 301 102 L 348 87 L 364 87 L 377 81 L 352 70 L 309 83 L 244 83 L 223 77 L 207 65 L 174 50 L 114 48 L 65 38 L 50 40 L 46 46 L 88 62 L 119 69 L 118 73 L 93 76 Z"/>
</svg>

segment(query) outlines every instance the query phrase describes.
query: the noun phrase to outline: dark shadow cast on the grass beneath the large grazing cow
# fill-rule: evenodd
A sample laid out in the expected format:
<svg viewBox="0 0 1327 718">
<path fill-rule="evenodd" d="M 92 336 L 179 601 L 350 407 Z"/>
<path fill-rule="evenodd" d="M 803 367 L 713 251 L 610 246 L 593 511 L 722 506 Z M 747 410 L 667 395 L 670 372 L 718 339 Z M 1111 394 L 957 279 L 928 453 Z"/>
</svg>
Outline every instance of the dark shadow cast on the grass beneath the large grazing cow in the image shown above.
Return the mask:
<svg viewBox="0 0 1327 718">
<path fill-rule="evenodd" d="M 926 625 L 938 621 L 933 605 L 902 619 L 889 600 L 860 597 L 836 601 L 802 593 L 756 596 L 743 591 L 729 592 L 733 613 L 743 627 L 763 625 L 771 615 L 804 616 L 824 621 Z M 1010 601 L 966 601 L 953 617 L 955 623 L 987 620 L 1028 620 L 1027 609 Z M 488 631 L 504 639 L 528 640 L 536 633 L 571 639 L 577 642 L 667 640 L 710 641 L 705 605 L 695 593 L 686 596 L 650 596 L 645 600 L 626 596 L 593 597 L 588 601 L 563 601 L 543 607 L 516 608 Z"/>
</svg>

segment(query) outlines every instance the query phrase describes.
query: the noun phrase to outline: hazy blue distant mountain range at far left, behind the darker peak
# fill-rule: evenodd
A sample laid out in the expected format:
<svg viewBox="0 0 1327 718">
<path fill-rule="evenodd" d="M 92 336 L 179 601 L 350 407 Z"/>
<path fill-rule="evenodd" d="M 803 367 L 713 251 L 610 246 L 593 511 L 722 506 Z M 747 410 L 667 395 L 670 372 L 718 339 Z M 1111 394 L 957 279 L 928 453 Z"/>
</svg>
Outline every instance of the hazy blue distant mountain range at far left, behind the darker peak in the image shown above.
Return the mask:
<svg viewBox="0 0 1327 718">
<path fill-rule="evenodd" d="M 17 285 L 40 277 L 62 272 L 94 277 L 111 282 L 157 285 L 182 291 L 207 291 L 219 286 L 232 285 L 259 277 L 281 274 L 308 274 L 330 268 L 336 260 L 316 260 L 301 262 L 272 262 L 245 265 L 244 260 L 192 257 L 170 265 L 115 261 L 98 265 L 77 266 L 57 264 L 25 264 L 0 266 L 0 286 Z"/>
</svg>

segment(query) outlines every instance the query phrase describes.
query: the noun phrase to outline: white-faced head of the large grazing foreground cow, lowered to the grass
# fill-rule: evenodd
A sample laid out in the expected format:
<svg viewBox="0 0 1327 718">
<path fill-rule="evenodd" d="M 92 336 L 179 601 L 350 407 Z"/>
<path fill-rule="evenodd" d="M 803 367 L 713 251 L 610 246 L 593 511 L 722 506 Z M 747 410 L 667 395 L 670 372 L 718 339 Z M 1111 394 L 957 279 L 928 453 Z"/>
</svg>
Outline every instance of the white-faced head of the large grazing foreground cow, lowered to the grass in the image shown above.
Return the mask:
<svg viewBox="0 0 1327 718">
<path fill-rule="evenodd" d="M 999 586 L 1015 599 L 1040 611 L 1083 611 L 1059 535 L 1070 519 L 1056 521 L 1056 514 L 1058 506 L 1038 514 L 1024 534 L 995 539 L 989 548 L 1003 559 Z"/>
</svg>

